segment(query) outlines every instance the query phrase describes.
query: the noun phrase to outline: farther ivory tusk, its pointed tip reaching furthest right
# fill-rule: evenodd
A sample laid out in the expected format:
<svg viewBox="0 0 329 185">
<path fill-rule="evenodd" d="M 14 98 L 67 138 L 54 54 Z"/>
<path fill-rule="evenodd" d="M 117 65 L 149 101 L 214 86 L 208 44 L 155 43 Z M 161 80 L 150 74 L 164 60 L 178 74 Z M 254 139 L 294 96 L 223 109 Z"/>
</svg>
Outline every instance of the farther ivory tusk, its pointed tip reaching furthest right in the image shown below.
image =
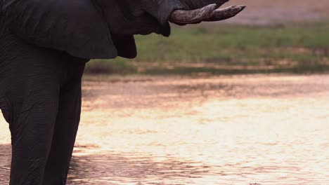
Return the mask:
<svg viewBox="0 0 329 185">
<path fill-rule="evenodd" d="M 245 9 L 245 5 L 240 6 L 229 6 L 227 8 L 217 9 L 212 12 L 212 16 L 210 18 L 205 19 L 204 21 L 219 21 L 226 20 L 228 18 L 233 18 L 238 15 L 241 11 Z"/>
</svg>

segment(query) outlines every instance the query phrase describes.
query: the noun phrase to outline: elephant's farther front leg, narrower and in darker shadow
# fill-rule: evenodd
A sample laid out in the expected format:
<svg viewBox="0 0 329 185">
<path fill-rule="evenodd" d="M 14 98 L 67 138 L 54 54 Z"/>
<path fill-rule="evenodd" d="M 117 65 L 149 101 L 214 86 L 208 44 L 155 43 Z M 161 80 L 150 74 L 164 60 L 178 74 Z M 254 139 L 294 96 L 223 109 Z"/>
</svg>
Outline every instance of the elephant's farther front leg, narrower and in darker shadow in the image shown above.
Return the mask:
<svg viewBox="0 0 329 185">
<path fill-rule="evenodd" d="M 46 163 L 44 185 L 66 184 L 67 172 L 75 144 L 81 112 L 81 78 L 84 64 L 68 69 L 69 79 L 60 89 L 58 115 L 53 132 L 51 152 Z"/>
</svg>

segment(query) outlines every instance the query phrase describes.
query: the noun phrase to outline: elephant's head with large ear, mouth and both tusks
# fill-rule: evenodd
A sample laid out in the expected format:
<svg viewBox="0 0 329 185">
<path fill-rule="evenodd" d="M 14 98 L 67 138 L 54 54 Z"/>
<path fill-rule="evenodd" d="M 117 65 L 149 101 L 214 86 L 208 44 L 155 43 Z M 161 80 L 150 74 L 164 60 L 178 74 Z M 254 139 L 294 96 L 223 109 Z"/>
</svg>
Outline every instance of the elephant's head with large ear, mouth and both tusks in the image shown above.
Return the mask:
<svg viewBox="0 0 329 185">
<path fill-rule="evenodd" d="M 169 36 L 177 25 L 218 21 L 245 6 L 217 9 L 228 0 L 4 0 L 8 28 L 37 46 L 75 57 L 136 57 L 135 34 Z"/>
</svg>

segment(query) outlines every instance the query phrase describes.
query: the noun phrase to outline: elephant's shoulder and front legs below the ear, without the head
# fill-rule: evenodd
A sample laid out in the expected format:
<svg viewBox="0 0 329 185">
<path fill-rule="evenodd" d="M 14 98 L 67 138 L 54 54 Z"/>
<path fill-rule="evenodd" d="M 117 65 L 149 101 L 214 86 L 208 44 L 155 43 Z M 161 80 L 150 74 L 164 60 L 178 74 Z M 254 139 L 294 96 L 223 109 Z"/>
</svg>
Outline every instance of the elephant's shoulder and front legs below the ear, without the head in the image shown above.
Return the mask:
<svg viewBox="0 0 329 185">
<path fill-rule="evenodd" d="M 87 60 L 26 43 L 1 23 L 0 109 L 11 130 L 11 184 L 65 184 Z"/>
</svg>

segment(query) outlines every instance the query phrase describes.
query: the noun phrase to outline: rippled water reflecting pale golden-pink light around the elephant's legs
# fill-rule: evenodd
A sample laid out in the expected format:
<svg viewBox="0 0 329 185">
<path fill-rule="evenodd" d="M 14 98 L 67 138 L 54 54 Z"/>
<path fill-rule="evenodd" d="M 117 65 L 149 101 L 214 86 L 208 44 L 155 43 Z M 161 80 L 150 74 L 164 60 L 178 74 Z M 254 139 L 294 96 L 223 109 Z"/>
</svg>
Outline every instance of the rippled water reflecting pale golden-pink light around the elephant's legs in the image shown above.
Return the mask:
<svg viewBox="0 0 329 185">
<path fill-rule="evenodd" d="M 68 184 L 329 184 L 329 75 L 89 76 L 83 90 Z"/>
</svg>

